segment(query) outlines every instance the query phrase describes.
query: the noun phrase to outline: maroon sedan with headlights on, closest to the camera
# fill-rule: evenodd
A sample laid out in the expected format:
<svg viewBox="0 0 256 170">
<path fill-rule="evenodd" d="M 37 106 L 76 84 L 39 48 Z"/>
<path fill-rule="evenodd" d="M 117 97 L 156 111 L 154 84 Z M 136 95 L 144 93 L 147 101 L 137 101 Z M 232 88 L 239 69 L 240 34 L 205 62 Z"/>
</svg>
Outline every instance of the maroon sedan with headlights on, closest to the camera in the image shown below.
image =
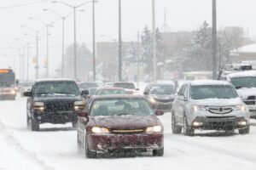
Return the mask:
<svg viewBox="0 0 256 170">
<path fill-rule="evenodd" d="M 113 151 L 152 151 L 163 156 L 163 126 L 148 101 L 137 95 L 104 95 L 90 99 L 84 112 L 79 112 L 78 144 L 85 156 Z"/>
</svg>

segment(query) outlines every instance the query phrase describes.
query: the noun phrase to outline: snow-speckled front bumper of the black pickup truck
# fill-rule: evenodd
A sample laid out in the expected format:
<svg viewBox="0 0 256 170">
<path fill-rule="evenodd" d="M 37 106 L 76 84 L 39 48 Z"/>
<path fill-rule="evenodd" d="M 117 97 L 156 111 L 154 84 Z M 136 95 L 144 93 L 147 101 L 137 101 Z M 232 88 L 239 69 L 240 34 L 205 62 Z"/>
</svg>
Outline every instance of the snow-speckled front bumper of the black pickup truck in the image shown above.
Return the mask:
<svg viewBox="0 0 256 170">
<path fill-rule="evenodd" d="M 39 123 L 53 123 L 63 124 L 67 122 L 77 122 L 78 115 L 75 111 L 61 111 L 61 112 L 36 112 L 34 114 Z"/>
</svg>

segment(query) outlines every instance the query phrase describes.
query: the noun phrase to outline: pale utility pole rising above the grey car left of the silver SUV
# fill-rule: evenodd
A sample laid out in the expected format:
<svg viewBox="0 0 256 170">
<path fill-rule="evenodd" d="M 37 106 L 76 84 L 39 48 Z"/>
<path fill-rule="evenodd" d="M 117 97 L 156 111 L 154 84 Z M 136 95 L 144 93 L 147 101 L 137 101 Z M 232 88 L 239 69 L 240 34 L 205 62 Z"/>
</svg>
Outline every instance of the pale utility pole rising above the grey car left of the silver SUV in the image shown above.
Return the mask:
<svg viewBox="0 0 256 170">
<path fill-rule="evenodd" d="M 156 81 L 156 37 L 155 37 L 155 3 L 152 0 L 152 25 L 153 25 L 153 81 Z"/>
</svg>

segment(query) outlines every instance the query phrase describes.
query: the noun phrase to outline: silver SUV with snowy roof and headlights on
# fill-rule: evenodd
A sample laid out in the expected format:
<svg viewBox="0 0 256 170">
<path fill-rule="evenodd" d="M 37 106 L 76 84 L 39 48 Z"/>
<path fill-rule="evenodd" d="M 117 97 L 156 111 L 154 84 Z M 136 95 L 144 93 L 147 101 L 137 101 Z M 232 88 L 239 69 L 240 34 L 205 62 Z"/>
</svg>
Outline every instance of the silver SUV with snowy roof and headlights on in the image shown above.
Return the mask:
<svg viewBox="0 0 256 170">
<path fill-rule="evenodd" d="M 230 82 L 185 82 L 172 105 L 172 133 L 195 129 L 249 133 L 249 111 Z"/>
</svg>

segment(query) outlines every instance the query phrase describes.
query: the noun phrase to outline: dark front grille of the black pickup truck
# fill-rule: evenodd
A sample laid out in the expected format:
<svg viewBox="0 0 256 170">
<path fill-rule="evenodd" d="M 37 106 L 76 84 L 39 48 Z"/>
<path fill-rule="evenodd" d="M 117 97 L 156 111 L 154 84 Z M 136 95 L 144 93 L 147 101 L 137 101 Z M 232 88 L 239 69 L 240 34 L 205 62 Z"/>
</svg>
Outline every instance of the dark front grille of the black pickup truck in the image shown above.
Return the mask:
<svg viewBox="0 0 256 170">
<path fill-rule="evenodd" d="M 48 112 L 56 112 L 56 111 L 73 111 L 73 103 L 72 102 L 52 102 L 45 104 L 45 109 Z"/>
</svg>

